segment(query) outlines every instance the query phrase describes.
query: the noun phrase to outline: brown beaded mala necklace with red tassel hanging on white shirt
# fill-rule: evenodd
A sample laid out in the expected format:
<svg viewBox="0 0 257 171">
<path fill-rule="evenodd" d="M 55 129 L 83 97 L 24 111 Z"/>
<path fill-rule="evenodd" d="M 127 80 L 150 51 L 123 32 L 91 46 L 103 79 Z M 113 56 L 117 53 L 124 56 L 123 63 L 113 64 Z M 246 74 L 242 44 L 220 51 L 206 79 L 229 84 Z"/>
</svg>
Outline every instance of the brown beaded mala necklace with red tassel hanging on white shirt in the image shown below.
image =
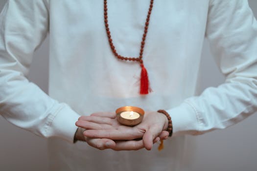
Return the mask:
<svg viewBox="0 0 257 171">
<path fill-rule="evenodd" d="M 107 36 L 108 36 L 108 39 L 109 39 L 110 47 L 113 51 L 113 54 L 118 59 L 124 60 L 124 61 L 135 61 L 135 62 L 138 62 L 140 64 L 140 66 L 141 66 L 140 94 L 148 94 L 149 91 L 150 91 L 148 74 L 147 74 L 146 68 L 144 67 L 142 58 L 143 58 L 144 42 L 145 42 L 145 38 L 146 38 L 146 35 L 147 35 L 149 20 L 150 20 L 152 8 L 153 8 L 153 2 L 154 2 L 154 0 L 150 0 L 150 6 L 149 6 L 149 9 L 148 9 L 147 18 L 146 18 L 146 21 L 145 21 L 144 33 L 143 33 L 143 36 L 142 36 L 139 57 L 138 58 L 133 58 L 133 57 L 124 57 L 124 56 L 121 56 L 117 53 L 116 48 L 115 48 L 114 43 L 113 43 L 113 40 L 112 40 L 111 32 L 110 32 L 110 29 L 109 29 L 109 24 L 108 24 L 107 0 L 104 0 L 104 23 L 105 23 L 106 33 L 107 33 Z"/>
</svg>

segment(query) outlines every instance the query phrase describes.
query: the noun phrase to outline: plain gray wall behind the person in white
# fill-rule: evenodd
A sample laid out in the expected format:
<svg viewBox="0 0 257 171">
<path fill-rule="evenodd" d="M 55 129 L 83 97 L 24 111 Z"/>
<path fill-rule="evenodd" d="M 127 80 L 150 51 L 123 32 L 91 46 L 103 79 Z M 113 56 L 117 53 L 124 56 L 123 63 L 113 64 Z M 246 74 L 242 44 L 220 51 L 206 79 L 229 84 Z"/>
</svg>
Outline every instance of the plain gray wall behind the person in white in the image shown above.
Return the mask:
<svg viewBox="0 0 257 171">
<path fill-rule="evenodd" d="M 6 0 L 0 0 L 0 10 Z M 257 18 L 257 0 L 249 0 Z M 199 92 L 224 81 L 205 42 Z M 47 92 L 47 40 L 36 51 L 29 80 Z M 256 54 L 257 55 L 257 54 Z M 211 77 L 209 76 L 211 75 Z M 191 171 L 257 171 L 257 114 L 224 130 L 190 137 L 196 142 Z M 47 142 L 0 117 L 0 171 L 47 171 Z"/>
</svg>

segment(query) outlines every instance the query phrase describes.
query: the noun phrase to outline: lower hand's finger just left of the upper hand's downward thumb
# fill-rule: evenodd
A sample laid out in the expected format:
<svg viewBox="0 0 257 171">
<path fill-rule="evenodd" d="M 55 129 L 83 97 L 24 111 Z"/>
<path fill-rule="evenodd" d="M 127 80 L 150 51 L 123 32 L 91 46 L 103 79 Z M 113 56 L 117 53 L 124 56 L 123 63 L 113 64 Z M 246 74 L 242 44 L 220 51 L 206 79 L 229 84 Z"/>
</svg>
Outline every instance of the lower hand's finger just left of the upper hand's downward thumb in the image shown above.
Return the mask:
<svg viewBox="0 0 257 171">
<path fill-rule="evenodd" d="M 143 140 L 135 141 L 117 141 L 116 146 L 113 150 L 120 151 L 120 150 L 140 150 L 144 148 Z"/>
</svg>

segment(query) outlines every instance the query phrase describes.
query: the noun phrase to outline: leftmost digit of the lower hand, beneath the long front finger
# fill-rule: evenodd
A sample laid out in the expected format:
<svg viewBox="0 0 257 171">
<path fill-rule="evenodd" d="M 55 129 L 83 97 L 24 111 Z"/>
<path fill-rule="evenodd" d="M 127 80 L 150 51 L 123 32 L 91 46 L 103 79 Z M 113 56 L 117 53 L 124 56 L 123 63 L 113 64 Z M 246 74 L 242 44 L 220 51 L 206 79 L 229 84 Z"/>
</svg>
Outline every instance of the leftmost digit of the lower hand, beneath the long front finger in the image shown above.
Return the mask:
<svg viewBox="0 0 257 171">
<path fill-rule="evenodd" d="M 99 150 L 105 150 L 105 149 L 114 149 L 116 144 L 113 140 L 106 139 L 106 138 L 86 138 L 86 142 L 88 145 L 99 149 Z"/>
</svg>

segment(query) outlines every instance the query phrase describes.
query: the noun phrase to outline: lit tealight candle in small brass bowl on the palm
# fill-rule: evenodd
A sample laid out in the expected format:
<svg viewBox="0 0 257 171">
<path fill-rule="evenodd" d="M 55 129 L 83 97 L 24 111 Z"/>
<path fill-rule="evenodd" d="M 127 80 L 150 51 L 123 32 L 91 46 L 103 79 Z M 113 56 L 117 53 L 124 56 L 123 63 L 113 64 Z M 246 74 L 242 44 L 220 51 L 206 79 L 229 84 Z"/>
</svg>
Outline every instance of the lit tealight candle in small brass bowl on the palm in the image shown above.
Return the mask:
<svg viewBox="0 0 257 171">
<path fill-rule="evenodd" d="M 138 125 L 144 115 L 144 110 L 139 107 L 125 106 L 116 110 L 117 120 L 120 124 L 126 126 Z"/>
</svg>

